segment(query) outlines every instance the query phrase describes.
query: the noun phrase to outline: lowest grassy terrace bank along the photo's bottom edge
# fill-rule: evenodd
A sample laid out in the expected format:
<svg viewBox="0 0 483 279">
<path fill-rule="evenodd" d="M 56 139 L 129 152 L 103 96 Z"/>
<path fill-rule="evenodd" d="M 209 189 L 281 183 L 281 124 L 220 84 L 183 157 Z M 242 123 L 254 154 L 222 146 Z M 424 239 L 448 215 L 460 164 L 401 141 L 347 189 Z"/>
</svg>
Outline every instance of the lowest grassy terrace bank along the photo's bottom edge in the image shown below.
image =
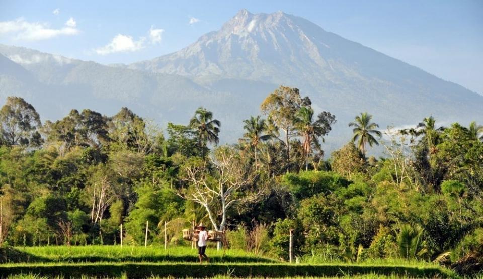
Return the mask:
<svg viewBox="0 0 483 279">
<path fill-rule="evenodd" d="M 140 263 L 140 262 L 96 262 L 96 263 L 37 263 L 3 264 L 0 276 L 13 274 L 39 274 L 41 276 L 100 276 L 146 278 L 156 276 L 213 277 L 229 275 L 235 277 L 292 277 L 292 276 L 353 276 L 363 274 L 409 276 L 418 278 L 454 277 L 451 272 L 433 267 L 369 266 L 369 265 L 304 265 L 267 263 Z"/>
</svg>

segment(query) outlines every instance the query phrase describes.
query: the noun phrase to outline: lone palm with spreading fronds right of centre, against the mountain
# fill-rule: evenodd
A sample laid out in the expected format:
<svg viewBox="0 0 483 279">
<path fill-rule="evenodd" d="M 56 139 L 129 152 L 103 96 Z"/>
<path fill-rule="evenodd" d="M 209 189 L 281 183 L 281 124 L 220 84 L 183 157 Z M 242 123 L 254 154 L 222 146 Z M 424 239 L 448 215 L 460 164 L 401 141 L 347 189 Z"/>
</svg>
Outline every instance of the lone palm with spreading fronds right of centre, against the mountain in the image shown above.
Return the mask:
<svg viewBox="0 0 483 279">
<path fill-rule="evenodd" d="M 354 136 L 352 137 L 352 142 L 359 140 L 357 146 L 359 150 L 361 150 L 362 154 L 366 154 L 366 144 L 368 143 L 370 147 L 373 144 L 379 145 L 379 142 L 373 136 L 376 135 L 379 138 L 382 137 L 382 133 L 376 128 L 379 128 L 379 125 L 376 123 L 371 123 L 372 115 L 368 114 L 367 112 L 361 113 L 361 115 L 356 116 L 355 122 L 349 123 L 349 127 L 354 126 L 355 128 L 352 129 Z"/>
</svg>

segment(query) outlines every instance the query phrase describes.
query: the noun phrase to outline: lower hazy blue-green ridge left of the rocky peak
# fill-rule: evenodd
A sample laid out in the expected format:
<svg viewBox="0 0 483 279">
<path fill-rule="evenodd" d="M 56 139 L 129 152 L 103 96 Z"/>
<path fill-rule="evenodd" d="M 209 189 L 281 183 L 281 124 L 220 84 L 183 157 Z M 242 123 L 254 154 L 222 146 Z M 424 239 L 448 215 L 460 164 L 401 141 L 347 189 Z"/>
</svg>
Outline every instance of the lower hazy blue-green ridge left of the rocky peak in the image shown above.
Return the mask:
<svg viewBox="0 0 483 279">
<path fill-rule="evenodd" d="M 44 119 L 61 118 L 73 108 L 110 115 L 127 106 L 166 123 L 189 119 L 211 94 L 179 75 L 109 67 L 14 46 L 0 45 L 0 53 L 10 58 L 0 56 L 0 97 L 25 97 Z"/>
</svg>

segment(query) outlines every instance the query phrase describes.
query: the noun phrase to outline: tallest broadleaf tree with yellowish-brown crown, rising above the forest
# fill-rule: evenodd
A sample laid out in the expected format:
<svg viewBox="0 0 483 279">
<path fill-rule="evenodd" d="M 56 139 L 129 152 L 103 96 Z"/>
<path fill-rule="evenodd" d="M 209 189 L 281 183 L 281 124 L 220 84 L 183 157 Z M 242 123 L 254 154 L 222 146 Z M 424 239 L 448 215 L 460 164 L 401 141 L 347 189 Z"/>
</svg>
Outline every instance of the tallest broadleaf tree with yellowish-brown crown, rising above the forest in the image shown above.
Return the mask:
<svg viewBox="0 0 483 279">
<path fill-rule="evenodd" d="M 311 101 L 302 98 L 297 88 L 280 86 L 262 102 L 263 113 L 271 117 L 274 123 L 285 133 L 287 160 L 290 161 L 290 138 L 295 136 L 296 114 L 301 107 L 308 107 Z"/>
</svg>

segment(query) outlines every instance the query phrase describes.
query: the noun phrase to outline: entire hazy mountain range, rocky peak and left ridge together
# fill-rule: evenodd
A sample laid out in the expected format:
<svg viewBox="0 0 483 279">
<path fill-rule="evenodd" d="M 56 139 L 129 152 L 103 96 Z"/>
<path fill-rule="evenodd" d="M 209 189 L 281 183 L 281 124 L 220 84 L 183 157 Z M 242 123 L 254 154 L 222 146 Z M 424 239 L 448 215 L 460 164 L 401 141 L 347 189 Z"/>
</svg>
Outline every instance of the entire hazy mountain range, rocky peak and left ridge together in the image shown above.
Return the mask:
<svg viewBox="0 0 483 279">
<path fill-rule="evenodd" d="M 26 96 L 45 118 L 71 108 L 114 114 L 127 106 L 161 124 L 187 123 L 198 106 L 222 121 L 222 141 L 279 85 L 298 87 L 316 112 L 338 123 L 327 149 L 344 144 L 362 111 L 381 128 L 433 115 L 441 123 L 483 123 L 483 96 L 282 12 L 241 10 L 190 46 L 130 65 L 104 66 L 0 45 L 0 97 Z M 8 59 L 7 59 L 7 58 Z"/>
</svg>

